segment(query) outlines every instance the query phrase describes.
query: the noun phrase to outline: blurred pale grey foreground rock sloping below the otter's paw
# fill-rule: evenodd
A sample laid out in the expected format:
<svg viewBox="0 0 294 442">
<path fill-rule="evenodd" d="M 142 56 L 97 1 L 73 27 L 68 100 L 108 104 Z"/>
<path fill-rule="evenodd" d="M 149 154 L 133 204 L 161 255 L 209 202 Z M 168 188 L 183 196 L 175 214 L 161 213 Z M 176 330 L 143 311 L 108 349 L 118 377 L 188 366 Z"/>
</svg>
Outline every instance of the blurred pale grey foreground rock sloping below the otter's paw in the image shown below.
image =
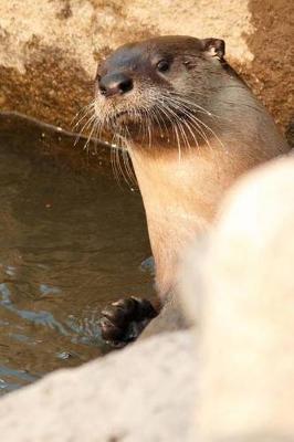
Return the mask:
<svg viewBox="0 0 294 442">
<path fill-rule="evenodd" d="M 166 334 L 6 396 L 1 440 L 187 441 L 196 397 L 191 333 Z"/>
</svg>

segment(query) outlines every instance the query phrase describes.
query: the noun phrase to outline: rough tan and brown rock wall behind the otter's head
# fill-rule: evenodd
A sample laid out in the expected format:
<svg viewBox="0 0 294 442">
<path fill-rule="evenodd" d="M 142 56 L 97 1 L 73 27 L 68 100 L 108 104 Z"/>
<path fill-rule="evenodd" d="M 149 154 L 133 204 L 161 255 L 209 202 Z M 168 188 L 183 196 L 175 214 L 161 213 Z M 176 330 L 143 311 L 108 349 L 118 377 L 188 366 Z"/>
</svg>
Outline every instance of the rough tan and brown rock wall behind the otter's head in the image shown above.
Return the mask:
<svg viewBox="0 0 294 442">
<path fill-rule="evenodd" d="M 265 3 L 1 1 L 0 108 L 70 128 L 78 109 L 93 99 L 96 61 L 115 46 L 155 34 L 214 35 L 227 41 L 233 65 L 284 126 L 293 113 L 294 6 L 287 0 Z"/>
</svg>

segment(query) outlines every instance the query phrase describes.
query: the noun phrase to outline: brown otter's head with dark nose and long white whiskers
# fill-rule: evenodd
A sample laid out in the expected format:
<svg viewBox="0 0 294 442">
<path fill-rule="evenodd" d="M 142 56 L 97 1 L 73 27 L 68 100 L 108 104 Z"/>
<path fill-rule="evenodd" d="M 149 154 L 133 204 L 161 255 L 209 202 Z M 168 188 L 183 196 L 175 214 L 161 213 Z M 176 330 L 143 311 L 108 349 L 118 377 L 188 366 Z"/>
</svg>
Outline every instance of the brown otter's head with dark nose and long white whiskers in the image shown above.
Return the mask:
<svg viewBox="0 0 294 442">
<path fill-rule="evenodd" d="M 190 36 L 118 48 L 97 69 L 97 126 L 135 145 L 144 139 L 150 144 L 150 134 L 195 137 L 197 119 L 210 115 L 211 90 L 224 73 L 223 55 L 222 40 Z"/>
</svg>

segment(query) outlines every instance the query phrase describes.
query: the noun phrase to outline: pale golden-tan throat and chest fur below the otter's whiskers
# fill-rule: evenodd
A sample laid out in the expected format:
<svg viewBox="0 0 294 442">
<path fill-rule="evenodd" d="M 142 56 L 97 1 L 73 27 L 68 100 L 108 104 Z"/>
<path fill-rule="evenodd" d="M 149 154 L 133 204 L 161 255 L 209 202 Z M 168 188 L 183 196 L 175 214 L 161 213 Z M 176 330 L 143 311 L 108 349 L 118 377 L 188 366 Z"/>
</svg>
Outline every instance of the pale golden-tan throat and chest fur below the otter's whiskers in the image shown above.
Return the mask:
<svg viewBox="0 0 294 442">
<path fill-rule="evenodd" d="M 237 155 L 237 148 L 229 152 L 212 147 L 185 149 L 180 158 L 177 150 L 150 155 L 133 147 L 129 151 L 146 210 L 161 298 L 176 284 L 178 262 L 188 244 L 209 227 L 224 190 L 250 167 L 250 159 Z"/>
</svg>

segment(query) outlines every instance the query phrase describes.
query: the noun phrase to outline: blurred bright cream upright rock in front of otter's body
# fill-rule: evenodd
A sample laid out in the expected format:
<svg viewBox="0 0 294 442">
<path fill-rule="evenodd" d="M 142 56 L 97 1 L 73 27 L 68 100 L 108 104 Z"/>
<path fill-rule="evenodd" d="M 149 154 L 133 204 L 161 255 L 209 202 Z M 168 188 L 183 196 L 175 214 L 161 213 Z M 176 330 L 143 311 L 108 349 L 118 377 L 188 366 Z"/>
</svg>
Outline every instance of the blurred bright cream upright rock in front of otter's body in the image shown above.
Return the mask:
<svg viewBox="0 0 294 442">
<path fill-rule="evenodd" d="M 230 191 L 209 240 L 201 441 L 294 440 L 293 201 L 294 158 L 271 161 Z"/>
</svg>

